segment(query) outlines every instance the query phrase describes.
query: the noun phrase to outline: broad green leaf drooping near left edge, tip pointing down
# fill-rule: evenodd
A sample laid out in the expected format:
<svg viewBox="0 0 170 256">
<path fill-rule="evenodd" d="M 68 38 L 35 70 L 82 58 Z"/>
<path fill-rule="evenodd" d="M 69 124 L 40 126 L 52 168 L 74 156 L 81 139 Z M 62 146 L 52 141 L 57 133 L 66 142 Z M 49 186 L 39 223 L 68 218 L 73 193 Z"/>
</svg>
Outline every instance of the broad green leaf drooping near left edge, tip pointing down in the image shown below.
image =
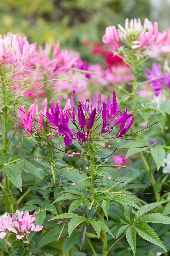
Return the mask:
<svg viewBox="0 0 170 256">
<path fill-rule="evenodd" d="M 4 166 L 6 176 L 8 179 L 17 187 L 20 188 L 22 186 L 21 173 L 19 172 L 19 168 L 16 164 L 8 164 Z"/>
</svg>

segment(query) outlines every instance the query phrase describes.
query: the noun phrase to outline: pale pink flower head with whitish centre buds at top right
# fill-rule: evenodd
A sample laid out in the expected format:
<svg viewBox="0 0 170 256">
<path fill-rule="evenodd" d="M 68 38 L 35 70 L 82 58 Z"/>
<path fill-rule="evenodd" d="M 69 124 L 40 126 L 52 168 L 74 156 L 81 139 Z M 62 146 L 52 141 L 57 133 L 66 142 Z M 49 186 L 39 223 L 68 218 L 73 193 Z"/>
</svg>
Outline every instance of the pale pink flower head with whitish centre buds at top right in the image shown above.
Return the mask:
<svg viewBox="0 0 170 256">
<path fill-rule="evenodd" d="M 121 48 L 120 40 L 132 49 L 139 49 L 138 54 L 142 50 L 147 49 L 147 53 L 153 52 L 155 47 L 159 45 L 166 37 L 166 32 L 159 33 L 158 23 L 152 24 L 148 19 L 144 20 L 142 26 L 140 19 L 125 20 L 125 28 L 118 24 L 118 30 L 115 26 L 106 28 L 105 35 L 102 38 L 104 44 L 109 47 L 112 52 Z"/>
</svg>

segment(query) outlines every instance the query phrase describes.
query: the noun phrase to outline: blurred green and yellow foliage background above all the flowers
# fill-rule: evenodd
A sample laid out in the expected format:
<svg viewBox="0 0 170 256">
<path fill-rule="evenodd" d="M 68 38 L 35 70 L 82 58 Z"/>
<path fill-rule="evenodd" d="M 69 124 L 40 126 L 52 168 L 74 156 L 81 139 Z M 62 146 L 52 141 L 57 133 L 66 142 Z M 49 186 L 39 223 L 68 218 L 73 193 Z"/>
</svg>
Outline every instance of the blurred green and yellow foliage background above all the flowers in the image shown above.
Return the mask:
<svg viewBox="0 0 170 256">
<path fill-rule="evenodd" d="M 0 33 L 27 36 L 44 45 L 60 40 L 61 48 L 75 49 L 85 60 L 93 42 L 101 41 L 108 25 L 124 25 L 125 18 L 159 21 L 170 26 L 170 0 L 1 0 Z"/>
</svg>

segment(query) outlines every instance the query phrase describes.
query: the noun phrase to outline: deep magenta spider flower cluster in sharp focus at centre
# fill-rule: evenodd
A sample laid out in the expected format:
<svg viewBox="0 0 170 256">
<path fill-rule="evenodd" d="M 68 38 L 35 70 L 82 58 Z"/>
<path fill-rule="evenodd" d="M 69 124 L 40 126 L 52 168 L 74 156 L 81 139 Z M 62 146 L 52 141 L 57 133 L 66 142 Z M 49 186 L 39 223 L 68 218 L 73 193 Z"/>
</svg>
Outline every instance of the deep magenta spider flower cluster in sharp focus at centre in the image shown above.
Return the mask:
<svg viewBox="0 0 170 256">
<path fill-rule="evenodd" d="M 120 123 L 119 132 L 112 139 L 122 137 L 131 127 L 134 117 L 130 120 L 132 114 L 127 113 L 127 109 L 122 113 L 119 110 L 116 101 L 115 91 L 113 91 L 113 100 L 111 103 L 110 94 L 107 102 L 103 102 L 101 106 L 101 96 L 99 95 L 96 104 L 96 96 L 93 95 L 92 104 L 89 104 L 89 99 L 86 99 L 85 105 L 79 101 L 78 109 L 74 106 L 75 90 L 71 94 L 70 108 L 65 111 L 59 109 L 58 102 L 55 109 L 51 106 L 50 111 L 46 112 L 46 116 L 54 129 L 58 131 L 57 135 L 64 136 L 66 146 L 70 146 L 72 140 L 77 140 L 80 144 L 86 143 L 90 139 L 95 139 L 96 136 L 109 134 L 114 125 Z M 70 125 L 68 124 L 71 121 Z M 128 120 L 127 124 L 126 121 Z M 97 121 L 99 124 L 96 124 Z M 51 128 L 51 126 L 48 126 Z"/>
</svg>

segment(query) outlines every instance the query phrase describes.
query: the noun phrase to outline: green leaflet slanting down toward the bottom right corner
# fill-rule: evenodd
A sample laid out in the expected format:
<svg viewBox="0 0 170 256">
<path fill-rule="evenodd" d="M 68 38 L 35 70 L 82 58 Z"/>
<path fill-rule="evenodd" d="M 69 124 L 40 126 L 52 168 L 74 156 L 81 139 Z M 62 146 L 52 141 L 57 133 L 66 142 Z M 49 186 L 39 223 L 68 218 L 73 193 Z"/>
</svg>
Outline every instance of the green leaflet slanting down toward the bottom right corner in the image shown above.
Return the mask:
<svg viewBox="0 0 170 256">
<path fill-rule="evenodd" d="M 160 240 L 159 236 L 155 232 L 155 230 L 145 224 L 138 224 L 136 227 L 137 233 L 143 239 L 153 244 L 158 245 L 159 247 L 163 248 L 166 251 L 166 248 L 162 241 Z"/>
</svg>

